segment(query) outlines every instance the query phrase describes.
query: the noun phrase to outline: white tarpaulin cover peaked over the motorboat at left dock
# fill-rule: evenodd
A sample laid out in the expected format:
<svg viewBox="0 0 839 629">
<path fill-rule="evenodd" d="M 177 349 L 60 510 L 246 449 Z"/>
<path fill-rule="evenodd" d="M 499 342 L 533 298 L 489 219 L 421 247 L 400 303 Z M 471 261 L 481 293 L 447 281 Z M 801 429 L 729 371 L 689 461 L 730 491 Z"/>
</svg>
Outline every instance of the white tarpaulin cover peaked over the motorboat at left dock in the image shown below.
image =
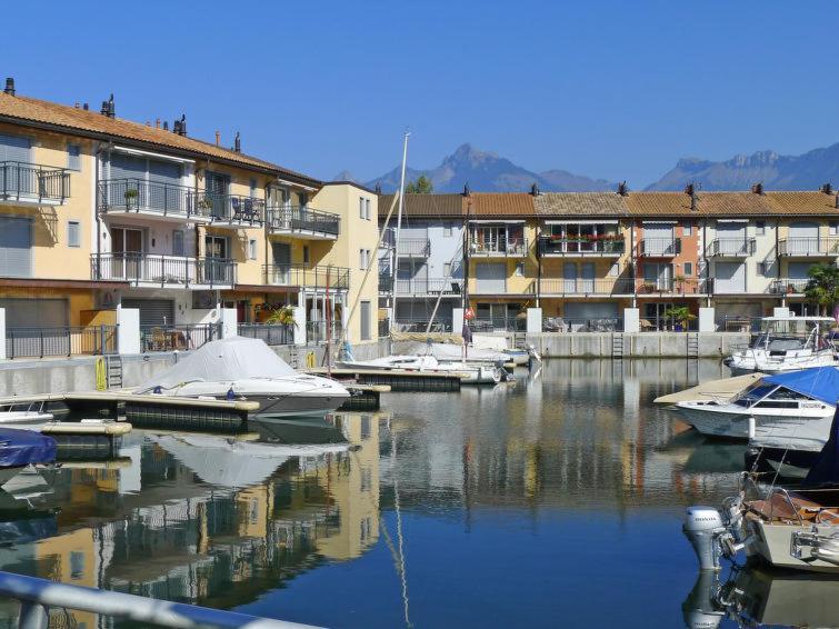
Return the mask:
<svg viewBox="0 0 839 629">
<path fill-rule="evenodd" d="M 172 389 L 186 382 L 229 382 L 246 378 L 297 376 L 261 339 L 230 337 L 210 341 L 172 368 L 143 383 L 138 392 L 156 387 Z"/>
</svg>

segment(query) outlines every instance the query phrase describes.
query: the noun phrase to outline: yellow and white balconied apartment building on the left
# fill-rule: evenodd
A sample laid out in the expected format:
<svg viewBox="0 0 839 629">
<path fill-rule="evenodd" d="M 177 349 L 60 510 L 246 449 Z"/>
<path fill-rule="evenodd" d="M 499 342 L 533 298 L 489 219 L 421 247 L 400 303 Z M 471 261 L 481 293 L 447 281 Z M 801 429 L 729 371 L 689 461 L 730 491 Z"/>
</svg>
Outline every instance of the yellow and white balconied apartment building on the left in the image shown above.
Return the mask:
<svg viewBox="0 0 839 629">
<path fill-rule="evenodd" d="M 259 323 L 281 306 L 323 337 L 360 290 L 357 247 L 378 237 L 377 196 L 101 109 L 0 93 L 0 308 L 7 329 Z M 369 218 L 359 217 L 359 203 Z M 350 247 L 350 241 L 353 242 Z M 356 272 L 353 272 L 356 271 Z M 349 326 L 374 338 L 378 277 Z M 359 280 L 352 286 L 352 280 Z M 363 303 L 367 303 L 364 307 Z"/>
</svg>

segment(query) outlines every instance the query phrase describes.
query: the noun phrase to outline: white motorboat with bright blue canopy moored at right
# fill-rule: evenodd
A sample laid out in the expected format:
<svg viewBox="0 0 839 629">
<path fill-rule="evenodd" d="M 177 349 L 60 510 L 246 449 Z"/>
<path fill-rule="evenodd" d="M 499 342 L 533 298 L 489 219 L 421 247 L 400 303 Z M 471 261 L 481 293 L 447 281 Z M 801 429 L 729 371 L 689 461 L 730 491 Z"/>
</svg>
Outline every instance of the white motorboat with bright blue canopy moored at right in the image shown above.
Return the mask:
<svg viewBox="0 0 839 629">
<path fill-rule="evenodd" d="M 731 401 L 685 400 L 675 409 L 706 436 L 818 452 L 838 398 L 839 370 L 822 367 L 763 377 Z"/>
</svg>

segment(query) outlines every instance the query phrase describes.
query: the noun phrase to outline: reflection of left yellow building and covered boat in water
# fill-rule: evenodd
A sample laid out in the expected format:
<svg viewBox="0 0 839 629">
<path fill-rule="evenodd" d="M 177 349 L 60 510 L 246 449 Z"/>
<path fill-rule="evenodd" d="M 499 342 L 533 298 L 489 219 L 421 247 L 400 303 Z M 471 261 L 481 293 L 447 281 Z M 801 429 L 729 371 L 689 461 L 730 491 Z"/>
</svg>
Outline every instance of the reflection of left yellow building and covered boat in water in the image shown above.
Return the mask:
<svg viewBox="0 0 839 629">
<path fill-rule="evenodd" d="M 7 496 L 13 522 L 30 519 L 31 505 L 50 526 L 39 539 L 23 537 L 24 527 L 6 531 L 0 566 L 222 609 L 250 602 L 377 542 L 381 418 L 332 418 L 343 446 L 136 431 L 119 460 L 74 463 L 28 501 Z M 278 425 L 270 432 L 283 436 Z M 11 622 L 17 605 L 0 613 Z M 53 610 L 51 622 L 63 625 L 64 613 Z M 77 627 L 98 626 L 94 615 L 72 617 Z"/>
</svg>

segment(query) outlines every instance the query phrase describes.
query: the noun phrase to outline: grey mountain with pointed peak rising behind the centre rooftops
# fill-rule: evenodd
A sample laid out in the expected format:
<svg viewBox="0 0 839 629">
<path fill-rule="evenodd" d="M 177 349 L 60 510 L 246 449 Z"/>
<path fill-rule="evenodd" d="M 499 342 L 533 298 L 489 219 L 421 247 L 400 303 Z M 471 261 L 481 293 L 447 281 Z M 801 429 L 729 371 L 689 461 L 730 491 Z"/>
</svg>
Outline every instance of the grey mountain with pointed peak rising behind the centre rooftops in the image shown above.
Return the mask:
<svg viewBox="0 0 839 629">
<path fill-rule="evenodd" d="M 458 147 L 435 168 L 418 170 L 408 167 L 406 181 L 416 180 L 420 174 L 431 179 L 435 192 L 460 192 L 467 182 L 469 188 L 479 192 L 526 192 L 533 182 L 542 191 L 613 190 L 616 186 L 603 179 L 590 179 L 565 170 L 533 172 L 468 143 Z M 386 192 L 397 190 L 399 167 L 368 181 L 366 186 L 373 188 L 377 183 Z"/>
</svg>

